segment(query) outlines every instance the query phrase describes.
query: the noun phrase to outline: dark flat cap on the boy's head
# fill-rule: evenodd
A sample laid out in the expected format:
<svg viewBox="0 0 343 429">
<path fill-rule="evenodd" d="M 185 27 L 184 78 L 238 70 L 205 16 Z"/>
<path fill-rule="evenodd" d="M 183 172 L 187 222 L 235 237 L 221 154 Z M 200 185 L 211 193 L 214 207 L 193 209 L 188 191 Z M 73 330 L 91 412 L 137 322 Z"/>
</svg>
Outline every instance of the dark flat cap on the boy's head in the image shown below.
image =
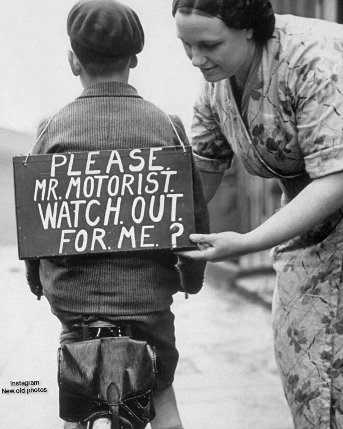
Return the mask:
<svg viewBox="0 0 343 429">
<path fill-rule="evenodd" d="M 137 54 L 144 46 L 136 12 L 115 0 L 78 1 L 69 12 L 67 32 L 84 48 L 113 57 Z"/>
</svg>

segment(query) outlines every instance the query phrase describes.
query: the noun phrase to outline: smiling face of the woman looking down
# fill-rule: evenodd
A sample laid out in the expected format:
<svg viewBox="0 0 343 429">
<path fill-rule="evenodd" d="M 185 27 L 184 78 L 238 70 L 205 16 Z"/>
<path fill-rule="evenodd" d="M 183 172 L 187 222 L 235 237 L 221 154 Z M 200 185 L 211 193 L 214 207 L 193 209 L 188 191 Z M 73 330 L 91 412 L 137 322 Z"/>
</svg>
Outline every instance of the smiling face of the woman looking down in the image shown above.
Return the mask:
<svg viewBox="0 0 343 429">
<path fill-rule="evenodd" d="M 208 82 L 235 75 L 245 83 L 255 44 L 253 30 L 236 30 L 211 15 L 175 14 L 177 37 Z"/>
</svg>

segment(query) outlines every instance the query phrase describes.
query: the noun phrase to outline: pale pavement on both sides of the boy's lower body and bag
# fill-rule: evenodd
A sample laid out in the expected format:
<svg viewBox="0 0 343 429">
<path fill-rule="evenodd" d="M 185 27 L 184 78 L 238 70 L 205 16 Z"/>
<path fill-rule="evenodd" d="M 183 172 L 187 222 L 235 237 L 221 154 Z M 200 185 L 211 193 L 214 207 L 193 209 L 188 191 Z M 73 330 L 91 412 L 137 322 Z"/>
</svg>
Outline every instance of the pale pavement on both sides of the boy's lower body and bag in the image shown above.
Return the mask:
<svg viewBox="0 0 343 429">
<path fill-rule="evenodd" d="M 30 293 L 15 247 L 0 247 L 0 270 L 0 429 L 62 429 L 59 322 Z M 268 269 L 242 275 L 232 264 L 208 264 L 199 294 L 175 296 L 174 389 L 185 429 L 293 428 L 273 355 L 274 280 Z M 46 391 L 6 393 L 23 389 L 14 381 Z"/>
</svg>

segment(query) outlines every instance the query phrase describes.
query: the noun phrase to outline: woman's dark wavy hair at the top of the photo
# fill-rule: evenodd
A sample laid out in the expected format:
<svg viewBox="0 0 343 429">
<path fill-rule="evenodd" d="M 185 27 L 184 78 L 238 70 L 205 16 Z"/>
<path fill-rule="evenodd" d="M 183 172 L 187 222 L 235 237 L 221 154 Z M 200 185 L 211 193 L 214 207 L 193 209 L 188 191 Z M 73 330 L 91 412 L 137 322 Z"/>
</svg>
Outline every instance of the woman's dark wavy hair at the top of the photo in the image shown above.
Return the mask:
<svg viewBox="0 0 343 429">
<path fill-rule="evenodd" d="M 181 13 L 191 13 L 196 9 L 213 15 L 230 28 L 252 28 L 259 43 L 266 43 L 275 27 L 275 15 L 269 0 L 173 0 L 173 16 L 179 8 L 182 8 Z"/>
</svg>

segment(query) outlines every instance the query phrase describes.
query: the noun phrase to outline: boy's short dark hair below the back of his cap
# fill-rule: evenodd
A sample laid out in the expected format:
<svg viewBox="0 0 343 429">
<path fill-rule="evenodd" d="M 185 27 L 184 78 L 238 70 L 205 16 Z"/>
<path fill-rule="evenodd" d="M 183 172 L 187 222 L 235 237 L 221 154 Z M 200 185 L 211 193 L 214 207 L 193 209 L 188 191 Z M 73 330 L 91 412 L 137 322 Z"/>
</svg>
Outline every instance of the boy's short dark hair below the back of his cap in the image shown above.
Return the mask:
<svg viewBox="0 0 343 429">
<path fill-rule="evenodd" d="M 107 76 L 115 72 L 123 72 L 130 60 L 130 56 L 118 58 L 97 52 L 96 50 L 84 48 L 72 39 L 71 47 L 87 74 L 91 77 Z"/>
</svg>

